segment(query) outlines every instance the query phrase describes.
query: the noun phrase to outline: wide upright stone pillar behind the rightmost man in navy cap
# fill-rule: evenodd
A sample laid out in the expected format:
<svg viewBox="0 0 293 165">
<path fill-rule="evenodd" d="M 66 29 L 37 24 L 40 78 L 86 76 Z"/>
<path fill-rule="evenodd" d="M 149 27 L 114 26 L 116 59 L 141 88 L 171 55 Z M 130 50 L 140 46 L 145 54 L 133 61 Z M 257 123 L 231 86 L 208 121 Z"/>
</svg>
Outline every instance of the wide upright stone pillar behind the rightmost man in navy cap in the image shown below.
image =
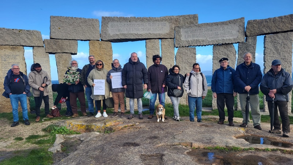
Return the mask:
<svg viewBox="0 0 293 165">
<path fill-rule="evenodd" d="M 279 59 L 282 62 L 282 68 L 289 72 L 292 78 L 292 45 L 293 32 L 265 35 L 263 57 L 263 61 L 265 62 L 264 73 L 270 70 L 273 60 Z M 289 92 L 288 114 L 291 114 L 291 97 L 292 92 Z M 264 101 L 264 109 L 268 111 L 266 101 Z"/>
</svg>

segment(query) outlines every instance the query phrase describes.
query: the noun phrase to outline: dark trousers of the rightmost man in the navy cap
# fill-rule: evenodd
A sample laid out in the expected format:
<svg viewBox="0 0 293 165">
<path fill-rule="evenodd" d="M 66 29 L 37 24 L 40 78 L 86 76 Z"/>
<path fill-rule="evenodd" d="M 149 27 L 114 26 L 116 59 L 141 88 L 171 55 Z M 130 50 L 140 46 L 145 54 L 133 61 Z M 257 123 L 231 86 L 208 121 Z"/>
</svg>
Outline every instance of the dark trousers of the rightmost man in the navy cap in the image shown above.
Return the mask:
<svg viewBox="0 0 293 165">
<path fill-rule="evenodd" d="M 269 112 L 272 110 L 272 101 L 268 101 Z M 275 101 L 274 108 L 274 129 L 281 129 L 281 123 L 279 120 L 278 108 L 282 119 L 283 132 L 290 132 L 290 119 L 288 116 L 287 101 Z M 271 114 L 270 114 L 271 115 Z"/>
</svg>

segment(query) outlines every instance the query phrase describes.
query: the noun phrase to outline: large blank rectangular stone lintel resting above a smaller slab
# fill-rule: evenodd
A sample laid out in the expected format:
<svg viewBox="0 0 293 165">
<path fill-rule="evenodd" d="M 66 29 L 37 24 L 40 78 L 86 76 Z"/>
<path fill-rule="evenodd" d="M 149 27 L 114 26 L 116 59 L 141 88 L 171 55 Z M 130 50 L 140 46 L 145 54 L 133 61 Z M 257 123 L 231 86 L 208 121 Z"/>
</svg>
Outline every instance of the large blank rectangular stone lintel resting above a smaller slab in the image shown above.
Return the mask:
<svg viewBox="0 0 293 165">
<path fill-rule="evenodd" d="M 100 41 L 100 22 L 93 18 L 50 16 L 50 38 Z"/>
</svg>

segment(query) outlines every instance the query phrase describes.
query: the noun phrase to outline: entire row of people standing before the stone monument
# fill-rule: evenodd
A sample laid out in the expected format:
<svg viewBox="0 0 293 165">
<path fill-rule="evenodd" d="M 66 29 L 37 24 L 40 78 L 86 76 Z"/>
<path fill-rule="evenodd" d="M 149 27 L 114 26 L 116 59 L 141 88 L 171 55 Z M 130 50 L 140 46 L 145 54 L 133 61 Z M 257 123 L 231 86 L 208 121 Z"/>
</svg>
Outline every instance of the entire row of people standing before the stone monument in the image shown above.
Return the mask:
<svg viewBox="0 0 293 165">
<path fill-rule="evenodd" d="M 138 117 L 143 119 L 142 115 L 142 97 L 144 95 L 143 90 L 147 89 L 148 92 L 152 92 L 153 96 L 150 99 L 149 105 L 149 119 L 154 117 L 155 102 L 157 94 L 159 95 L 160 104 L 165 107 L 165 92 L 170 97 L 173 104 L 174 115 L 173 119 L 180 121 L 179 115 L 179 102 L 180 97 L 183 96 L 184 91 L 188 95 L 189 105 L 189 119 L 191 122 L 195 121 L 194 110 L 196 109 L 197 122 L 202 122 L 202 99 L 207 95 L 207 80 L 205 75 L 200 71 L 200 65 L 198 63 L 193 64 L 193 68 L 190 73 L 186 73 L 184 76 L 180 74 L 180 67 L 174 65 L 169 70 L 165 65 L 161 64 L 162 58 L 159 55 L 153 56 L 154 65 L 151 65 L 148 70 L 145 65 L 140 62 L 137 57 L 137 53 L 131 53 L 128 63 L 122 66 L 119 60 L 115 59 L 112 63 L 112 69 L 110 71 L 104 68 L 102 60 L 95 62 L 95 57 L 90 55 L 88 57 L 89 64 L 84 65 L 82 69 L 78 68 L 78 62 L 76 60 L 71 61 L 69 69 L 76 70 L 81 79 L 73 84 L 60 84 L 58 88 L 63 97 L 67 99 L 67 112 L 66 116 L 78 117 L 76 99 L 79 99 L 81 112 L 83 116 L 95 117 L 108 117 L 106 113 L 105 99 L 110 97 L 110 91 L 112 92 L 114 100 L 114 113 L 111 117 L 118 116 L 118 107 L 120 104 L 121 114 L 120 117 L 125 117 L 125 103 L 124 98 L 130 98 L 130 115 L 128 119 L 134 117 L 134 99 L 137 99 L 138 105 Z M 288 116 L 288 93 L 292 90 L 293 82 L 290 74 L 282 68 L 280 60 L 273 60 L 271 69 L 262 76 L 260 66 L 251 62 L 251 53 L 245 53 L 243 55 L 244 62 L 236 67 L 236 70 L 229 66 L 228 58 L 222 58 L 219 60 L 220 68 L 217 69 L 212 76 L 212 92 L 213 97 L 217 98 L 217 107 L 219 110 L 219 122 L 218 124 L 224 124 L 225 112 L 224 106 L 226 104 L 228 110 L 228 122 L 229 126 L 234 126 L 234 97 L 239 93 L 241 111 L 243 114 L 243 123 L 240 127 L 246 127 L 246 97 L 250 96 L 251 115 L 253 120 L 253 126 L 256 129 L 261 130 L 260 127 L 260 109 L 259 109 L 259 88 L 266 95 L 266 101 L 268 102 L 268 108 L 270 113 L 274 113 L 274 129 L 270 132 L 275 134 L 281 134 L 280 121 L 278 117 L 277 108 L 279 108 L 280 116 L 282 119 L 283 136 L 289 137 L 290 122 Z M 69 70 L 67 70 L 69 72 Z M 113 76 L 111 73 L 121 72 L 121 85 L 122 87 L 113 88 L 111 80 Z M 46 78 L 46 81 L 45 81 Z M 105 80 L 105 94 L 94 95 L 94 80 Z M 11 127 L 18 125 L 18 101 L 21 102 L 23 109 L 23 120 L 25 125 L 29 125 L 27 115 L 27 102 L 26 97 L 31 95 L 30 87 L 33 88 L 33 96 L 36 102 L 36 122 L 40 121 L 40 106 L 42 100 L 45 103 L 45 115 L 46 117 L 53 118 L 49 112 L 49 91 L 47 86 L 50 85 L 51 79 L 47 72 L 42 70 L 40 64 L 33 64 L 31 72 L 27 77 L 19 71 L 19 66 L 13 64 L 11 70 L 8 71 L 4 80 L 5 92 L 3 95 L 10 98 L 13 109 L 13 124 Z M 61 86 L 62 85 L 62 86 Z M 88 110 L 86 113 L 86 101 L 84 96 L 84 88 L 86 92 Z M 42 91 L 42 93 L 41 93 Z M 59 94 L 58 92 L 58 94 Z M 60 97 L 57 96 L 60 100 Z M 59 100 L 55 100 L 54 107 L 57 106 Z M 103 100 L 103 115 L 101 114 L 101 101 Z M 95 101 L 96 112 L 94 111 L 93 101 Z M 271 111 L 272 101 L 275 103 L 275 108 Z M 69 106 L 70 105 L 70 106 Z M 166 116 L 165 116 L 166 119 Z"/>
</svg>

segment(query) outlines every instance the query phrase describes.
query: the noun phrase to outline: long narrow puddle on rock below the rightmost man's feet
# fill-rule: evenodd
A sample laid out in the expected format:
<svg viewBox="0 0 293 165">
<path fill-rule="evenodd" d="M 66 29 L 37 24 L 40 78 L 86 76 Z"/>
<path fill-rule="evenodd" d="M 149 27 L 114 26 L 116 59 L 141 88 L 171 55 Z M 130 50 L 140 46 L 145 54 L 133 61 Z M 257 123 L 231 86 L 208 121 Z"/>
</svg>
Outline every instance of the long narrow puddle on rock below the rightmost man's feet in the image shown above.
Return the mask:
<svg viewBox="0 0 293 165">
<path fill-rule="evenodd" d="M 244 139 L 246 142 L 251 144 L 265 144 L 265 145 L 272 145 L 278 147 L 291 147 L 292 144 L 287 142 L 277 142 L 265 137 L 258 137 L 258 136 L 242 136 L 238 137 L 238 139 Z M 261 163 L 261 162 L 260 162 Z M 262 164 L 262 163 L 261 163 Z"/>
</svg>

